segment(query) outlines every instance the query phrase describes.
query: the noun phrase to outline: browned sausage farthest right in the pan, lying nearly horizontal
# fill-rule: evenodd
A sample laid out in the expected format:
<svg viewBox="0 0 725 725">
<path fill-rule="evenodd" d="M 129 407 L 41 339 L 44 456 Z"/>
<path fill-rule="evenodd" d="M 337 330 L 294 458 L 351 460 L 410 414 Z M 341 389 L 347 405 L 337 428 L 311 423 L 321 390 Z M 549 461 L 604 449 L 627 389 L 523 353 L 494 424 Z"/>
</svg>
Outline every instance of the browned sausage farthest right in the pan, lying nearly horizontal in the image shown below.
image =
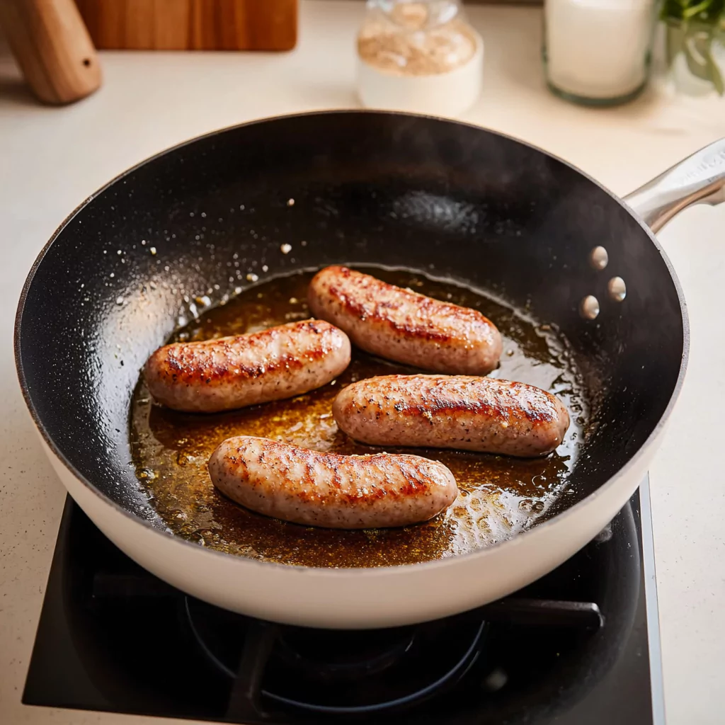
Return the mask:
<svg viewBox="0 0 725 725">
<path fill-rule="evenodd" d="M 521 457 L 552 452 L 569 426 L 563 402 L 545 390 L 472 376 L 368 378 L 342 389 L 332 412 L 347 435 L 371 445 Z"/>
</svg>

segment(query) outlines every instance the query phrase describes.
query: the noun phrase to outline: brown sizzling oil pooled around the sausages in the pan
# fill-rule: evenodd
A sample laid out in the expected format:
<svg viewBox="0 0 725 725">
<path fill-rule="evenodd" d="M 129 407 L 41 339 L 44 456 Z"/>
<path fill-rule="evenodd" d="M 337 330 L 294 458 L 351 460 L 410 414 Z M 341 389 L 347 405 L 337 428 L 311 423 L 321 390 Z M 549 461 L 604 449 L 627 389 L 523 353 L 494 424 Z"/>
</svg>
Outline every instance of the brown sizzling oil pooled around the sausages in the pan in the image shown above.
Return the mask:
<svg viewBox="0 0 725 725">
<path fill-rule="evenodd" d="M 587 417 L 581 381 L 566 341 L 550 326 L 471 289 L 410 271 L 371 271 L 430 297 L 474 307 L 491 319 L 504 338 L 501 365 L 492 377 L 534 384 L 563 399 L 572 418 L 563 444 L 552 455 L 534 460 L 386 447 L 388 452 L 415 452 L 447 465 L 460 489 L 455 504 L 433 521 L 402 529 L 315 529 L 266 518 L 217 492 L 207 473 L 212 451 L 225 438 L 251 435 L 319 451 L 378 452 L 339 430 L 331 414 L 334 397 L 361 378 L 416 370 L 354 349 L 349 368 L 323 388 L 213 415 L 177 413 L 156 405 L 140 381 L 130 413 L 133 463 L 149 500 L 174 534 L 212 549 L 279 563 L 389 566 L 445 558 L 513 537 L 535 523 L 555 497 L 566 495 L 566 474 Z M 311 277 L 299 273 L 247 289 L 226 305 L 204 312 L 170 341 L 243 334 L 306 319 Z"/>
</svg>

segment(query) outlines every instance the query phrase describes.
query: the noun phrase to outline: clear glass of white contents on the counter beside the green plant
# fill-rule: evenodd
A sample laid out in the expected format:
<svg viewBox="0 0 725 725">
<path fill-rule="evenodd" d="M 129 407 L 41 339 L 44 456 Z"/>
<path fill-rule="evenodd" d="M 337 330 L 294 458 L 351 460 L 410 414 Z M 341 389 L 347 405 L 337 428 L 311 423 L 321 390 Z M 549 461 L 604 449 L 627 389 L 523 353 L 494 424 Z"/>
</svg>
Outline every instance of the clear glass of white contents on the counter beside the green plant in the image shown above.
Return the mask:
<svg viewBox="0 0 725 725">
<path fill-rule="evenodd" d="M 654 0 L 546 0 L 547 75 L 556 88 L 614 99 L 645 83 Z"/>
</svg>

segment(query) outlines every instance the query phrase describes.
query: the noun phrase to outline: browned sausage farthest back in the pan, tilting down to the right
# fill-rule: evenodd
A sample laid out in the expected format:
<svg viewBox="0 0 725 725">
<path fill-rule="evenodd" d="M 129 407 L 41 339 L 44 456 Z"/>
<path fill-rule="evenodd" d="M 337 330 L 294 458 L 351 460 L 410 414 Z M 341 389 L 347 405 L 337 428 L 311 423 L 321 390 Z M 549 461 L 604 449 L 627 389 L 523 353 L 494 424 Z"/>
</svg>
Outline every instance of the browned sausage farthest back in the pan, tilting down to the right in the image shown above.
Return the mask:
<svg viewBox="0 0 725 725">
<path fill-rule="evenodd" d="M 374 355 L 438 373 L 486 375 L 501 357 L 501 335 L 481 312 L 440 302 L 347 267 L 310 282 L 310 310 Z"/>
</svg>

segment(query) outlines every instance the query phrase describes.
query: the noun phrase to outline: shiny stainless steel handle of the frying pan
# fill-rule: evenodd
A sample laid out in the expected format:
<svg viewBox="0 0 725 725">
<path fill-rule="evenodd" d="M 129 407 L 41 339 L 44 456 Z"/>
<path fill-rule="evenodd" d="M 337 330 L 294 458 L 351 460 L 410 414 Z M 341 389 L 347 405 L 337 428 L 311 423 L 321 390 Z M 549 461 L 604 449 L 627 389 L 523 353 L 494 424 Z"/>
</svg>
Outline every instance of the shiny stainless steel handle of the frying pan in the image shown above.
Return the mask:
<svg viewBox="0 0 725 725">
<path fill-rule="evenodd" d="M 640 186 L 624 201 L 655 233 L 692 204 L 725 202 L 725 138 Z"/>
</svg>

